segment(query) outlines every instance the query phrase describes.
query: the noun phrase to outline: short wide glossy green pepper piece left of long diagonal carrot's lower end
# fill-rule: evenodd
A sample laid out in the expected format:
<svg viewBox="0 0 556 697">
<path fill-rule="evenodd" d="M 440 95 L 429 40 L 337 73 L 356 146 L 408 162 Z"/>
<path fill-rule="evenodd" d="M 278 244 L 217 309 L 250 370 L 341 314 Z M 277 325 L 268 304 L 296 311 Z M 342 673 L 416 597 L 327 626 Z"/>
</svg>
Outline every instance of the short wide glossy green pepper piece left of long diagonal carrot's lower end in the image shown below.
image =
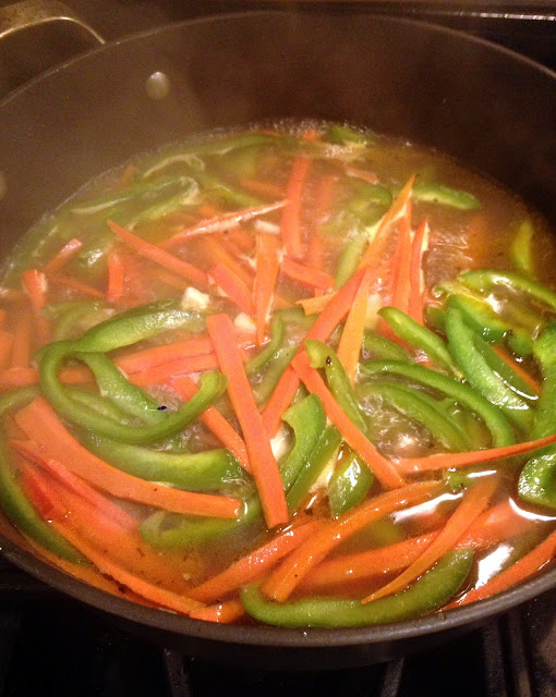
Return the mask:
<svg viewBox="0 0 556 697">
<path fill-rule="evenodd" d="M 360 462 L 356 453 L 350 453 L 334 470 L 328 481 L 328 505 L 333 517 L 337 517 L 359 505 L 366 497 L 374 474 L 368 465 Z"/>
</svg>

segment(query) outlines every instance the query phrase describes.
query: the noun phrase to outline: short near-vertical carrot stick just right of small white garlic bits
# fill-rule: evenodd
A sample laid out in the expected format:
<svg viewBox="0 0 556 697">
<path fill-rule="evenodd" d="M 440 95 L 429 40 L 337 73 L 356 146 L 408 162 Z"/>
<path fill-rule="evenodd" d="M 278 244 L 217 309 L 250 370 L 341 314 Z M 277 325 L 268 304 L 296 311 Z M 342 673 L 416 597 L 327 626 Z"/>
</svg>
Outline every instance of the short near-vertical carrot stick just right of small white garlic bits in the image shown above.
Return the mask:
<svg viewBox="0 0 556 697">
<path fill-rule="evenodd" d="M 279 270 L 278 240 L 258 233 L 256 237 L 256 276 L 253 289 L 257 344 L 265 340 L 265 330 L 273 309 L 276 280 Z"/>
</svg>

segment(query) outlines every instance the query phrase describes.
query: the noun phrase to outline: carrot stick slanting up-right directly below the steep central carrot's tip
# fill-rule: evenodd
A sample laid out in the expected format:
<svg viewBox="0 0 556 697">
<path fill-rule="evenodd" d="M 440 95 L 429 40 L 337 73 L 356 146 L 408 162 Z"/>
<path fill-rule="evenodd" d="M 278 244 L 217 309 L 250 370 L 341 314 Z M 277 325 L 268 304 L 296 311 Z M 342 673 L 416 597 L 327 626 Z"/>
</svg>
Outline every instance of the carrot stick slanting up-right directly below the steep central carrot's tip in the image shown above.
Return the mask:
<svg viewBox="0 0 556 697">
<path fill-rule="evenodd" d="M 242 557 L 218 576 L 194 588 L 190 596 L 202 602 L 215 602 L 233 592 L 244 584 L 259 579 L 280 559 L 299 547 L 311 535 L 319 530 L 325 521 L 311 521 L 276 535 L 269 542 Z"/>
</svg>

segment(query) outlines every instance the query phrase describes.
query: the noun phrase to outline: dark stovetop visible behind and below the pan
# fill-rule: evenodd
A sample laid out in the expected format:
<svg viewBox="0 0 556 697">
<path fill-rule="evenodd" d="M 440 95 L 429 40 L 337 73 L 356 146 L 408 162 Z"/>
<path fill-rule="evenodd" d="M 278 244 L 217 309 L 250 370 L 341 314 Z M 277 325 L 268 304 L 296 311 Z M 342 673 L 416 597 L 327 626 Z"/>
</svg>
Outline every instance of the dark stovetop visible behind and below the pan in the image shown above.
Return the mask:
<svg viewBox="0 0 556 697">
<path fill-rule="evenodd" d="M 13 0 L 0 0 L 0 7 Z M 245 9 L 378 12 L 467 30 L 556 69 L 556 2 L 64 0 L 107 40 Z M 48 59 L 50 60 L 50 59 Z M 0 53 L 1 69 L 1 53 Z M 2 87 L 0 70 L 0 91 Z M 20 76 L 20 82 L 21 82 Z M 10 86 L 14 86 L 10 83 Z M 5 91 L 5 90 L 4 90 Z M 189 658 L 114 626 L 0 558 L 0 697 L 556 697 L 556 589 L 440 648 L 364 669 L 265 672 Z"/>
</svg>

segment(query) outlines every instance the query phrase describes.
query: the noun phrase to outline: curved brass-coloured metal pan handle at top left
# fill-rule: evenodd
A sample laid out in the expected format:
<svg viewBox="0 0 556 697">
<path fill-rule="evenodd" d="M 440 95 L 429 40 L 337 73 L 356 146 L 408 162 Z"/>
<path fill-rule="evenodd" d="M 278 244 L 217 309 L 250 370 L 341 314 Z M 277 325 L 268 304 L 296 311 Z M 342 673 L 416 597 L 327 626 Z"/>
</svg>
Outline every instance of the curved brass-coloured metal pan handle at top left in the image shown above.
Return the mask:
<svg viewBox="0 0 556 697">
<path fill-rule="evenodd" d="M 98 32 L 71 8 L 58 2 L 58 0 L 22 0 L 0 8 L 0 39 L 31 27 L 53 22 L 67 23 L 69 26 L 76 27 L 89 44 L 106 44 Z"/>
</svg>

